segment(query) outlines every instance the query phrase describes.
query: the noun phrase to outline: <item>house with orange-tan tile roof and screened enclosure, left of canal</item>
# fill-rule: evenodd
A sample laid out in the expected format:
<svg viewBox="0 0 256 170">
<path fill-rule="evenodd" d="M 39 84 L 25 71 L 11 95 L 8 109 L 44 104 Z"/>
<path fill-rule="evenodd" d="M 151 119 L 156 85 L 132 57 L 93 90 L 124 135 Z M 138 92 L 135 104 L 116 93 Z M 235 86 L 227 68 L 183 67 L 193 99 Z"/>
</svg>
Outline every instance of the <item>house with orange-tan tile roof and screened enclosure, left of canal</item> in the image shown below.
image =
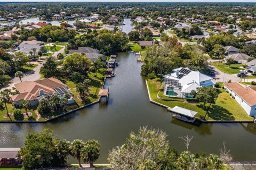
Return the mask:
<svg viewBox="0 0 256 170">
<path fill-rule="evenodd" d="M 65 94 L 73 95 L 66 84 L 55 78 L 41 79 L 37 81 L 23 81 L 14 84 L 20 94 L 11 96 L 15 106 L 19 106 L 22 99 L 29 100 L 31 106 L 37 106 L 42 98 L 50 98 L 55 94 L 62 98 Z M 73 99 L 70 100 L 70 104 Z"/>
</svg>

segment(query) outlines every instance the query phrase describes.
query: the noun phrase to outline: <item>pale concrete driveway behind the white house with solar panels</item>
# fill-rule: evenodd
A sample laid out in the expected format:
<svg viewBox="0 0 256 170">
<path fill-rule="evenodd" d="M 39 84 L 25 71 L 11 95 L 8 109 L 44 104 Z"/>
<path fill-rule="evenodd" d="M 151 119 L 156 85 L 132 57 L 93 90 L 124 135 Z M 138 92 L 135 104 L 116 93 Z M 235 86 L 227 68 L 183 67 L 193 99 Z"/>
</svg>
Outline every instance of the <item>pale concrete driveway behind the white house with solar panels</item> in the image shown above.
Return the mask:
<svg viewBox="0 0 256 170">
<path fill-rule="evenodd" d="M 223 73 L 212 65 L 209 65 L 209 68 L 213 71 L 213 82 L 228 82 L 229 80 L 231 80 L 231 82 L 241 81 L 241 78 L 237 77 L 236 75 Z"/>
</svg>

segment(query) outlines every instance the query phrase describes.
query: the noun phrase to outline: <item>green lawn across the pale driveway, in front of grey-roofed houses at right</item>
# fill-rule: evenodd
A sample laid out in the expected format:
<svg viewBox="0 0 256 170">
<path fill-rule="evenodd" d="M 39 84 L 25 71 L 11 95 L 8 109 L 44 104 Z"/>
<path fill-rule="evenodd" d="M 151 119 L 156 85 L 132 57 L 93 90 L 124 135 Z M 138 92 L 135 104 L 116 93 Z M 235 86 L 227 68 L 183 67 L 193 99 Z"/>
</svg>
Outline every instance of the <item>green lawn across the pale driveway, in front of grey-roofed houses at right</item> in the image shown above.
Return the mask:
<svg viewBox="0 0 256 170">
<path fill-rule="evenodd" d="M 228 66 L 224 63 L 220 63 L 220 65 L 218 65 L 218 63 L 219 62 L 212 62 L 211 64 L 224 73 L 237 74 L 240 72 L 240 70 L 243 70 L 240 68 L 242 64 L 231 64 L 230 66 Z"/>
</svg>

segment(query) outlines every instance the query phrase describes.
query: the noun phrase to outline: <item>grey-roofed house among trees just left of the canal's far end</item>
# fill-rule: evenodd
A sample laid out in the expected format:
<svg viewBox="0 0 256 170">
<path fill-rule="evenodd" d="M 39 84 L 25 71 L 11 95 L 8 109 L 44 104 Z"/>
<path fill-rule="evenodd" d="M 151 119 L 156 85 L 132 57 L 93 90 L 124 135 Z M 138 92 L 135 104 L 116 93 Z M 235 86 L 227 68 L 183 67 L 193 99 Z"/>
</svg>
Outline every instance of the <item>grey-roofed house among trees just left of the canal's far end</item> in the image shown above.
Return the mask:
<svg viewBox="0 0 256 170">
<path fill-rule="evenodd" d="M 70 49 L 68 53 L 82 53 L 85 54 L 92 61 L 96 60 L 99 56 L 102 56 L 103 61 L 107 60 L 107 56 L 100 54 L 98 49 L 94 49 L 91 47 L 78 47 L 78 49 Z"/>
</svg>

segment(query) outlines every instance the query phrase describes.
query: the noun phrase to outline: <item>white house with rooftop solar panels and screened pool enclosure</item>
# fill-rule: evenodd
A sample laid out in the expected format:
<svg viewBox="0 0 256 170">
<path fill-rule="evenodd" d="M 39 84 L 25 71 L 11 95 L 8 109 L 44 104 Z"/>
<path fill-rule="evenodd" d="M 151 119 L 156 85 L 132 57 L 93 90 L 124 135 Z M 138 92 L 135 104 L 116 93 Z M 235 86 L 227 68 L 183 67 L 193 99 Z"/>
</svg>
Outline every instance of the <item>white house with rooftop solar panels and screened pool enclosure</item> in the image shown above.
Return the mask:
<svg viewBox="0 0 256 170">
<path fill-rule="evenodd" d="M 199 71 L 180 67 L 164 75 L 164 95 L 169 97 L 189 98 L 192 90 L 202 86 L 214 86 L 211 77 Z"/>
</svg>

